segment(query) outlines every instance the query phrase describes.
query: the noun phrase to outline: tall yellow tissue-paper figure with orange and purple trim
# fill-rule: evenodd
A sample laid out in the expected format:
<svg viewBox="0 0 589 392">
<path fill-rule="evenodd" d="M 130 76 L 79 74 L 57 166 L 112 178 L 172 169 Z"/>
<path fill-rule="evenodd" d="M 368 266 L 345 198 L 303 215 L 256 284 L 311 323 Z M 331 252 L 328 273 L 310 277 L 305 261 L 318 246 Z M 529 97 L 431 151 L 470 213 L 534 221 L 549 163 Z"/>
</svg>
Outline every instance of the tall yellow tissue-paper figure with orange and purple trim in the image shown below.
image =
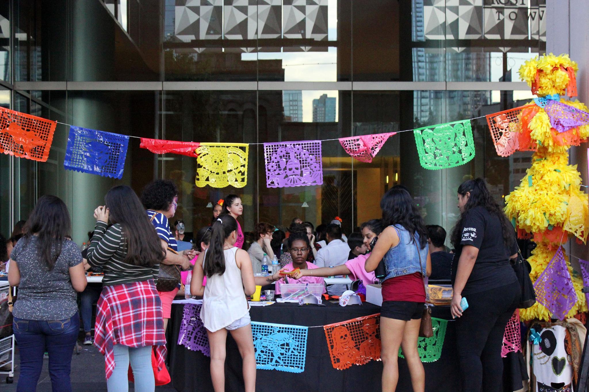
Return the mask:
<svg viewBox="0 0 589 392">
<path fill-rule="evenodd" d="M 552 53 L 526 61 L 519 68 L 519 77 L 538 98 L 528 103 L 533 106 L 522 110 L 518 131 L 529 135 L 530 145 L 524 147 L 536 152 L 520 185 L 505 196 L 505 213 L 517 229 L 518 237 L 531 238 L 537 244 L 528 259 L 532 282 L 547 267 L 561 243 L 567 242 L 569 237 L 576 237 L 577 242 L 587 240 L 587 194 L 581 192 L 577 165 L 568 165 L 570 146 L 586 142 L 589 136 L 589 125 L 574 126 L 571 122 L 574 116 L 586 116 L 587 113 L 580 110 L 586 112 L 587 106 L 565 99 L 565 94 L 577 95 L 577 69 L 577 63 L 568 55 Z M 561 116 L 568 116 L 562 121 L 568 126 L 558 122 Z M 567 267 L 578 299 L 567 314 L 573 317 L 587 311 L 587 304 L 581 292 L 583 280 L 578 273 L 573 273 L 568 259 Z M 551 313 L 537 302 L 529 309 L 522 309 L 520 317 L 521 320 L 548 321 Z"/>
</svg>

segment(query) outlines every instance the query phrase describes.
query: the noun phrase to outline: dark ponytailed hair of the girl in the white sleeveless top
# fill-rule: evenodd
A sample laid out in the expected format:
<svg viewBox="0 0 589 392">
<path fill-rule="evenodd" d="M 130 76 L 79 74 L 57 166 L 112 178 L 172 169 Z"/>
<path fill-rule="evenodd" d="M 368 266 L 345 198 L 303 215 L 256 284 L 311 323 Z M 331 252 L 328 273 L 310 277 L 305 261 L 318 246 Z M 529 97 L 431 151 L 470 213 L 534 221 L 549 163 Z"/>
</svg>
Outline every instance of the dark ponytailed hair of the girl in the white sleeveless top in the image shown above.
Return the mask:
<svg viewBox="0 0 589 392">
<path fill-rule="evenodd" d="M 212 227 L 213 234 L 211 234 L 211 242 L 203 266 L 204 274 L 207 277 L 225 273 L 223 248 L 227 237 L 237 230 L 237 220 L 229 214 L 221 214 L 214 220 Z"/>
</svg>

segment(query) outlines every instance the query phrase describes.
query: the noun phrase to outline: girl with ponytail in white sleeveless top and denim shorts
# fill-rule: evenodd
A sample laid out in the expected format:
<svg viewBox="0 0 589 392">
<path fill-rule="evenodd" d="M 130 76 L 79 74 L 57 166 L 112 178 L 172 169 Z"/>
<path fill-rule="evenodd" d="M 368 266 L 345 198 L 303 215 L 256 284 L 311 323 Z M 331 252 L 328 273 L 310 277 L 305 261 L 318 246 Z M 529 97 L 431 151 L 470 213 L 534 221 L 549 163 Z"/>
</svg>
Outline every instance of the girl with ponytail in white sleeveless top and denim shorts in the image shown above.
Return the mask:
<svg viewBox="0 0 589 392">
<path fill-rule="evenodd" d="M 211 349 L 211 379 L 216 392 L 225 390 L 225 344 L 227 331 L 236 341 L 243 360 L 246 392 L 256 389 L 256 358 L 246 295 L 256 291 L 252 262 L 243 249 L 234 246 L 237 220 L 221 214 L 214 221 L 209 249 L 198 255 L 190 292 L 203 295 L 200 318 L 207 329 Z M 207 286 L 203 287 L 203 277 Z"/>
</svg>

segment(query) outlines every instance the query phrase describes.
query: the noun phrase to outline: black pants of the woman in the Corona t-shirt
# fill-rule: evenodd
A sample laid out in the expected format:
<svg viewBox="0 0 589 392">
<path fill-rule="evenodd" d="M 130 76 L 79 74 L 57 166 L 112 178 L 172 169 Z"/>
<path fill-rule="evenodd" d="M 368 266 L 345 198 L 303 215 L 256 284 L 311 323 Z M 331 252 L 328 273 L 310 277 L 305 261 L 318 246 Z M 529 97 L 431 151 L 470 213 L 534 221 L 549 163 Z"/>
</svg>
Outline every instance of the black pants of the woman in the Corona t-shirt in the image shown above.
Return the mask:
<svg viewBox="0 0 589 392">
<path fill-rule="evenodd" d="M 468 309 L 456 319 L 456 346 L 463 391 L 502 390 L 503 333 L 520 296 L 517 281 L 484 292 L 465 294 Z"/>
</svg>

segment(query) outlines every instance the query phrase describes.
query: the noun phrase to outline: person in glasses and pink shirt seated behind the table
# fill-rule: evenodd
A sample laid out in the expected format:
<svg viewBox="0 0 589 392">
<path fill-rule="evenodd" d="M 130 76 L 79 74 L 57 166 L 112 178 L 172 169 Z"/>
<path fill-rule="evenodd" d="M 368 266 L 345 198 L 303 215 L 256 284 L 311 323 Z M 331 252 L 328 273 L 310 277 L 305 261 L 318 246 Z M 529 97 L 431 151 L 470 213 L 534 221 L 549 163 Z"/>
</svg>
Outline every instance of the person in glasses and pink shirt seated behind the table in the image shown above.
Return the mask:
<svg viewBox="0 0 589 392">
<path fill-rule="evenodd" d="M 294 270 L 299 268 L 300 273 L 297 276 L 293 276 L 292 278 L 287 278 L 288 283 L 319 283 L 323 284 L 323 293 L 326 292 L 325 290 L 325 280 L 323 280 L 320 276 L 313 276 L 313 272 L 315 270 L 330 270 L 333 272 L 334 268 L 319 268 L 313 263 L 307 262 L 307 256 L 309 256 L 309 252 L 311 249 L 311 243 L 309 242 L 309 237 L 307 237 L 306 233 L 302 232 L 294 232 L 290 234 L 288 241 L 289 245 L 289 253 L 292 257 L 292 263 L 286 264 L 284 266 L 284 270 Z M 328 274 L 326 276 L 331 276 L 333 273 Z M 281 279 L 276 282 L 276 294 L 280 294 L 280 286 L 282 286 L 285 280 Z"/>
</svg>

